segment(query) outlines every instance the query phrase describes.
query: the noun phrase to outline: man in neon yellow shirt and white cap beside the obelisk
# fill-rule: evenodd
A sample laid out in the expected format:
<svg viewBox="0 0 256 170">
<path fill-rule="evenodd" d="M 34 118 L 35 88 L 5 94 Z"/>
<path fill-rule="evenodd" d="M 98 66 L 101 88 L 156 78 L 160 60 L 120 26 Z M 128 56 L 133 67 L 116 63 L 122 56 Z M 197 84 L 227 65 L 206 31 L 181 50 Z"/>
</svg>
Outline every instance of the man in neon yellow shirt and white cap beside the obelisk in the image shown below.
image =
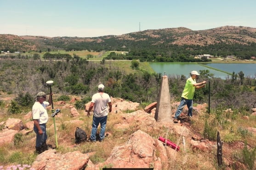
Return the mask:
<svg viewBox="0 0 256 170">
<path fill-rule="evenodd" d="M 177 108 L 175 116 L 173 117 L 174 123 L 178 123 L 178 117 L 182 113 L 182 110 L 186 104 L 188 106 L 188 117 L 189 118 L 192 117 L 193 97 L 194 97 L 195 88 L 203 88 L 205 87 L 205 84 L 206 84 L 205 81 L 197 83 L 196 78 L 198 76 L 199 76 L 199 73 L 197 71 L 190 72 L 190 77 L 187 79 L 186 85 L 182 92 L 181 103 Z"/>
</svg>

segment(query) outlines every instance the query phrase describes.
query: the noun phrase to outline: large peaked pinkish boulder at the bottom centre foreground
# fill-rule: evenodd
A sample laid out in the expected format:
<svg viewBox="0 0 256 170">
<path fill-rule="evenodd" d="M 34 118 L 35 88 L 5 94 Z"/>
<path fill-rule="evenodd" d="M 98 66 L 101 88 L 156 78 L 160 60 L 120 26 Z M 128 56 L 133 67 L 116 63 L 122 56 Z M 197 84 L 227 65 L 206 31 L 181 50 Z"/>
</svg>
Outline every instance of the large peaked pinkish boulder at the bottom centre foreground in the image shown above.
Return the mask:
<svg viewBox="0 0 256 170">
<path fill-rule="evenodd" d="M 154 139 L 138 130 L 131 134 L 124 145 L 114 147 L 104 163 L 96 166 L 99 168 L 111 164 L 112 168 L 149 168 L 156 159 L 154 150 Z M 159 166 L 159 160 L 156 164 Z"/>
</svg>

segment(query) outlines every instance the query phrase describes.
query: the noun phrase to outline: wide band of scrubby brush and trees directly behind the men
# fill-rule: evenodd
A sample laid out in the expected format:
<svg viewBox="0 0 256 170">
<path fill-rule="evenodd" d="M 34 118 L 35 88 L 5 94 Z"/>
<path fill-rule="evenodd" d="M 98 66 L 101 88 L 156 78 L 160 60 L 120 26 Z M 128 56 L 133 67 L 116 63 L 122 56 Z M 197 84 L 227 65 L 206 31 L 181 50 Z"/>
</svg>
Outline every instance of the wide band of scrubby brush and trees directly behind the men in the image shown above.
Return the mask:
<svg viewBox="0 0 256 170">
<path fill-rule="evenodd" d="M 54 93 L 79 95 L 90 100 L 97 92 L 99 82 L 105 84 L 105 92 L 114 98 L 122 98 L 141 104 L 157 101 L 162 75 L 139 70 L 139 63 L 132 63 L 134 73 L 105 63 L 88 61 L 79 56 L 71 60 L 1 59 L 0 89 L 16 96 L 35 96 L 38 91 L 48 91 L 46 81 L 53 80 Z M 132 67 L 132 66 L 131 66 Z M 208 88 L 195 92 L 195 103 L 207 103 L 211 108 L 250 110 L 256 107 L 256 77 L 244 77 L 243 72 L 234 73 L 225 80 L 215 78 L 208 70 L 201 70 L 199 82 L 210 82 Z M 169 76 L 169 75 L 168 75 Z M 184 75 L 169 76 L 172 101 L 179 101 L 186 83 Z"/>
</svg>

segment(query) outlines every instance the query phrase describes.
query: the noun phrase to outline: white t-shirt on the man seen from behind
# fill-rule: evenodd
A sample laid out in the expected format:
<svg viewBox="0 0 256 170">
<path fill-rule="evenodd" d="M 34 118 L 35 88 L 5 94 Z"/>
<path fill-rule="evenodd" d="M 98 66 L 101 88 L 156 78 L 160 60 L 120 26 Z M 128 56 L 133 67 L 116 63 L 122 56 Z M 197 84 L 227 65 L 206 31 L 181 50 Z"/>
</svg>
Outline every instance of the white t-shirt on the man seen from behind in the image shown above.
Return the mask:
<svg viewBox="0 0 256 170">
<path fill-rule="evenodd" d="M 107 93 L 96 93 L 92 96 L 91 99 L 94 104 L 94 116 L 103 117 L 108 115 L 108 103 L 111 102 L 111 99 Z"/>
</svg>

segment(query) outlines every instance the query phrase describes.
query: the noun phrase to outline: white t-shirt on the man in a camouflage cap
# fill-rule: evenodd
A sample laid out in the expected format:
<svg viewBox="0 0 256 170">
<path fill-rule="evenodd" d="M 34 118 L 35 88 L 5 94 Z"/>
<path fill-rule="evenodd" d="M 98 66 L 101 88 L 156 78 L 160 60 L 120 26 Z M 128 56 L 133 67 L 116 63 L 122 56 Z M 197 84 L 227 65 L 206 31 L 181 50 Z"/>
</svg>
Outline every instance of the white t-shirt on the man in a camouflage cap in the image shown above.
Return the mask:
<svg viewBox="0 0 256 170">
<path fill-rule="evenodd" d="M 33 120 L 38 119 L 39 124 L 47 123 L 48 121 L 48 114 L 46 107 L 49 105 L 49 102 L 44 101 L 42 104 L 39 102 L 35 102 L 32 107 L 32 115 Z"/>
</svg>

